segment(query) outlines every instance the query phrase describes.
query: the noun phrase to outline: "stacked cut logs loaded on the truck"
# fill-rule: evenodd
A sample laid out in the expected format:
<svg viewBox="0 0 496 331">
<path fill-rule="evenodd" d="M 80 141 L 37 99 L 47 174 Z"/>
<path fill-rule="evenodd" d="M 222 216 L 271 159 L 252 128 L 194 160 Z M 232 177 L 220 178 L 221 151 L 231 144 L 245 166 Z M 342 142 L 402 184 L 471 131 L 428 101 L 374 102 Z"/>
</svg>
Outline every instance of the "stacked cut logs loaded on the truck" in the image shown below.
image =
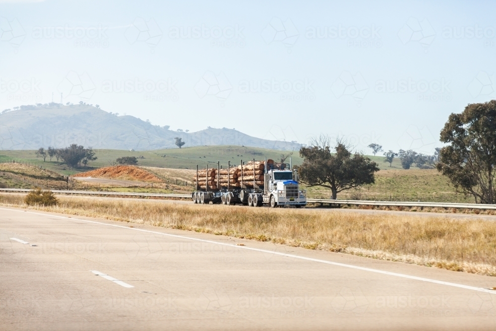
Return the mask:
<svg viewBox="0 0 496 331">
<path fill-rule="evenodd" d="M 273 160 L 267 160 L 267 165 L 273 164 Z M 198 170 L 198 186 L 200 189 L 217 190 L 227 188 L 228 183 L 230 188 L 241 187 L 242 182 L 246 187 L 253 187 L 253 180 L 256 185 L 264 184 L 264 169 L 265 161 L 247 162 L 243 166 L 232 167 L 229 169 L 219 170 L 219 187 L 217 187 L 217 169 L 201 169 Z M 193 176 L 193 183 L 196 182 L 196 175 Z"/>
</svg>

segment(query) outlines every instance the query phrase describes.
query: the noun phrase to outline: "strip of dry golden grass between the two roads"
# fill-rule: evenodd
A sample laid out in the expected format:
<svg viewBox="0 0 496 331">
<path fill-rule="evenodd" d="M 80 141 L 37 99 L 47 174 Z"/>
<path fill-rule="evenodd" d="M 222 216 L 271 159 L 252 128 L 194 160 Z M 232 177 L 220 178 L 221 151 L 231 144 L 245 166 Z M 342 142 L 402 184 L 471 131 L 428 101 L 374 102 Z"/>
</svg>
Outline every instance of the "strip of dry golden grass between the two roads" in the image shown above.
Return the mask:
<svg viewBox="0 0 496 331">
<path fill-rule="evenodd" d="M 1 204 L 22 199 L 0 194 Z M 35 208 L 496 276 L 491 221 L 81 197 Z"/>
</svg>

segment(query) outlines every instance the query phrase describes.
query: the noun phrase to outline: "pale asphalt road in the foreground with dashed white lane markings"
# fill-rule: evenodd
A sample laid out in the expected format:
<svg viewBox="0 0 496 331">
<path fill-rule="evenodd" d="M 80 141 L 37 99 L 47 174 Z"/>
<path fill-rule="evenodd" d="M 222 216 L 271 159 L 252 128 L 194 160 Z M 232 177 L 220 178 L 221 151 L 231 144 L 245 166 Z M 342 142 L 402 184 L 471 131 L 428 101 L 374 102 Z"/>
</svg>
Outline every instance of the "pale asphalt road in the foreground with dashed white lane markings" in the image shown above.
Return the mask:
<svg viewBox="0 0 496 331">
<path fill-rule="evenodd" d="M 0 207 L 0 330 L 496 330 L 493 286 L 489 276 Z"/>
</svg>

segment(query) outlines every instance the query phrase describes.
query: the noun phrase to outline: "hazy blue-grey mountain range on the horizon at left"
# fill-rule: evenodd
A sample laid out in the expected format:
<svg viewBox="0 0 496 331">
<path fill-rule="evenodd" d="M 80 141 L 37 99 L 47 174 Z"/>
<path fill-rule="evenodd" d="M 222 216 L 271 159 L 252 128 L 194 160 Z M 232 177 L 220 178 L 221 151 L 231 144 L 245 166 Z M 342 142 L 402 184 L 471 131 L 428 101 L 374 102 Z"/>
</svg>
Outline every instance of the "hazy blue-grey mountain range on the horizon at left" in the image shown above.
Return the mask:
<svg viewBox="0 0 496 331">
<path fill-rule="evenodd" d="M 177 132 L 152 125 L 133 116 L 116 116 L 90 105 L 51 103 L 21 106 L 0 115 L 0 149 L 86 147 L 150 150 L 176 148 L 174 137 L 185 146 L 244 145 L 279 150 L 299 150 L 293 142 L 260 139 L 232 129 Z"/>
</svg>

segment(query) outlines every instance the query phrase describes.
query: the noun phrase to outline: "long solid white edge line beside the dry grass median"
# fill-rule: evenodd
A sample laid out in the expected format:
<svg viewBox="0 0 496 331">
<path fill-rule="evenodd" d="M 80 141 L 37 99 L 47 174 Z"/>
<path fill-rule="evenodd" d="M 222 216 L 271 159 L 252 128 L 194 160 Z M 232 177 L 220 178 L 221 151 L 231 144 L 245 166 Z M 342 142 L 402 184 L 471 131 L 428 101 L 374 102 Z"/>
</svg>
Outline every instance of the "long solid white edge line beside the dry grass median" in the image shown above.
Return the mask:
<svg viewBox="0 0 496 331">
<path fill-rule="evenodd" d="M 0 209 L 21 212 L 20 210 L 15 210 L 15 209 L 8 209 L 8 208 L 1 208 L 1 207 L 0 207 Z M 100 225 L 106 225 L 106 226 L 113 226 L 113 227 L 116 227 L 116 228 L 123 228 L 123 229 L 126 229 L 126 230 L 134 230 L 134 231 L 140 231 L 140 232 L 147 232 L 147 233 L 159 234 L 159 235 L 162 235 L 162 236 L 168 236 L 168 237 L 174 237 L 174 238 L 181 238 L 181 239 L 187 239 L 187 240 L 200 241 L 200 242 L 204 242 L 204 243 L 210 243 L 210 244 L 228 246 L 228 247 L 233 247 L 233 248 L 242 249 L 242 250 L 249 250 L 249 251 L 255 251 L 255 252 L 269 253 L 269 254 L 284 256 L 284 257 L 293 258 L 293 259 L 300 259 L 300 260 L 306 260 L 306 261 L 324 263 L 324 264 L 327 264 L 327 265 L 343 266 L 343 267 L 346 267 L 346 268 L 352 268 L 352 269 L 357 269 L 357 270 L 362 270 L 362 271 L 369 271 L 369 272 L 381 273 L 381 274 L 385 274 L 385 275 L 389 275 L 389 276 L 395 276 L 395 277 L 401 277 L 401 278 L 407 278 L 407 279 L 420 280 L 420 281 L 425 281 L 425 282 L 434 283 L 434 284 L 440 284 L 440 285 L 446 285 L 446 286 L 453 286 L 453 287 L 463 288 L 463 289 L 472 290 L 472 291 L 478 291 L 478 292 L 486 292 L 486 293 L 490 293 L 490 294 L 496 294 L 496 291 L 495 290 L 490 290 L 490 289 L 482 288 L 482 287 L 468 286 L 468 285 L 450 283 L 450 282 L 442 281 L 442 280 L 435 280 L 435 279 L 430 279 L 430 278 L 410 276 L 410 275 L 403 274 L 403 273 L 396 273 L 396 272 L 390 272 L 390 271 L 384 271 L 384 270 L 366 268 L 366 267 L 357 266 L 357 265 L 346 265 L 346 264 L 343 264 L 343 263 L 331 262 L 331 261 L 325 261 L 325 260 L 319 260 L 319 259 L 312 259 L 312 258 L 307 258 L 307 257 L 303 257 L 303 256 L 293 255 L 293 254 L 285 254 L 285 253 L 280 253 L 280 252 L 261 250 L 261 249 L 258 249 L 258 248 L 251 248 L 251 247 L 248 247 L 248 246 L 237 246 L 237 245 L 232 245 L 232 244 L 219 243 L 219 242 L 212 241 L 212 240 L 197 239 L 197 238 L 191 238 L 191 237 L 186 237 L 186 236 L 179 236 L 179 235 L 175 235 L 175 234 L 169 234 L 169 233 L 163 233 L 163 232 L 157 232 L 157 231 L 150 231 L 150 230 L 144 230 L 144 229 L 128 228 L 128 227 L 123 226 L 123 225 L 107 224 L 107 223 L 90 221 L 90 220 L 80 219 L 80 218 L 69 218 L 69 217 L 66 217 L 66 216 L 43 214 L 43 213 L 32 212 L 32 211 L 29 211 L 29 213 L 35 214 L 35 215 L 42 215 L 42 216 L 58 217 L 58 218 L 63 218 L 63 219 L 67 219 L 67 220 L 70 220 L 70 221 L 81 221 L 81 222 L 92 223 L 92 224 L 100 224 Z"/>
</svg>

